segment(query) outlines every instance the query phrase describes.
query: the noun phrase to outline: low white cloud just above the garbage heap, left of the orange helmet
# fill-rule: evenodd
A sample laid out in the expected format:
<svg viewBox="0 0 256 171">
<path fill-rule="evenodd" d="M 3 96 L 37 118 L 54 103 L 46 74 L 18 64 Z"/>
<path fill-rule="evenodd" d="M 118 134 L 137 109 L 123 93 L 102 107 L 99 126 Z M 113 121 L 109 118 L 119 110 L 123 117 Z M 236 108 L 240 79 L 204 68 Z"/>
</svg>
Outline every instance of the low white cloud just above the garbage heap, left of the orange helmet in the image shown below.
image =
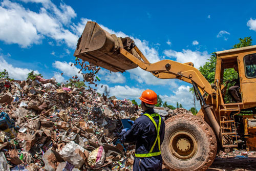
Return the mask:
<svg viewBox="0 0 256 171">
<path fill-rule="evenodd" d="M 101 88 L 101 86 L 103 87 Z M 110 90 L 110 96 L 116 96 L 118 99 L 136 99 L 140 97 L 141 93 L 144 91 L 143 89 L 135 88 L 135 87 L 129 87 L 129 86 L 115 86 L 115 87 L 109 87 L 106 84 L 99 84 L 98 90 L 100 94 L 103 94 L 104 87 L 107 87 L 108 90 Z"/>
</svg>

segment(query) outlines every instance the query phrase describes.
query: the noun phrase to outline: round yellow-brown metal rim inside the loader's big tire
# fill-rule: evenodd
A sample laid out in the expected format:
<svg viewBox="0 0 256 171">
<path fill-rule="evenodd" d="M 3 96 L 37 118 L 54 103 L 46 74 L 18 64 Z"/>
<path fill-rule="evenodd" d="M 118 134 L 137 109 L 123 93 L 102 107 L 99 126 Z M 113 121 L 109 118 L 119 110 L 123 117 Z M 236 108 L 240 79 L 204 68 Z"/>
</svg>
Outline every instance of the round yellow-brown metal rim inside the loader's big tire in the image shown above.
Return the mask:
<svg viewBox="0 0 256 171">
<path fill-rule="evenodd" d="M 169 137 L 169 151 L 179 160 L 189 160 L 198 149 L 196 137 L 188 131 L 176 131 Z"/>
</svg>

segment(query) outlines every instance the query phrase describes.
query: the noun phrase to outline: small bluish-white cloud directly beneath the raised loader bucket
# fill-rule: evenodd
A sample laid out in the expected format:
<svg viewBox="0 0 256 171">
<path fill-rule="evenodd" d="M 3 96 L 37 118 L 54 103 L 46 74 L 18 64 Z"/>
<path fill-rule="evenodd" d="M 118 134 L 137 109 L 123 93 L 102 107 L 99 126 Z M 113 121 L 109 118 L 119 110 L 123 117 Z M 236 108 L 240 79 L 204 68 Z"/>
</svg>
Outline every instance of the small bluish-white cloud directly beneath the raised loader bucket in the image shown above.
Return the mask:
<svg viewBox="0 0 256 171">
<path fill-rule="evenodd" d="M 125 77 L 122 75 L 122 73 L 110 73 L 108 70 L 101 69 L 99 71 L 99 75 L 101 75 L 101 78 L 108 83 L 124 83 Z"/>
</svg>

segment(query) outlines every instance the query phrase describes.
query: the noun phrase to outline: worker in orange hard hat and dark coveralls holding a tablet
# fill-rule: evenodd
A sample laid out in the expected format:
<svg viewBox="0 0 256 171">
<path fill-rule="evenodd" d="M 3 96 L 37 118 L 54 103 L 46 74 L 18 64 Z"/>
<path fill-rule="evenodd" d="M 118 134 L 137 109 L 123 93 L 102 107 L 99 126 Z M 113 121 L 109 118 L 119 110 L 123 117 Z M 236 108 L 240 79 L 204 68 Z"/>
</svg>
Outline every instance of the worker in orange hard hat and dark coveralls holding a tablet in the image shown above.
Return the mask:
<svg viewBox="0 0 256 171">
<path fill-rule="evenodd" d="M 139 99 L 144 113 L 134 121 L 130 130 L 122 130 L 121 140 L 136 141 L 133 170 L 162 170 L 160 146 L 164 139 L 165 124 L 162 117 L 154 112 L 157 94 L 152 90 L 145 90 Z"/>
</svg>

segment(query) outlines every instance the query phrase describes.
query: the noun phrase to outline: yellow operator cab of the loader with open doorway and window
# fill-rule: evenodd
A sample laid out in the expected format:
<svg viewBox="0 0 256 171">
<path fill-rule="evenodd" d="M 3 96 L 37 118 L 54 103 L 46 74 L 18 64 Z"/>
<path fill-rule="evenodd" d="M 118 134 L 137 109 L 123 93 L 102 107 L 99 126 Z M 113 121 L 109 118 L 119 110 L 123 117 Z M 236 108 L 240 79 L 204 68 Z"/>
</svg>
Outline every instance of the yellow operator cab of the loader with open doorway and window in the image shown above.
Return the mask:
<svg viewBox="0 0 256 171">
<path fill-rule="evenodd" d="M 221 103 L 237 103 L 242 108 L 256 106 L 256 46 L 220 51 L 216 55 L 215 84 L 219 86 Z M 240 101 L 230 93 L 233 86 L 238 86 Z"/>
</svg>

